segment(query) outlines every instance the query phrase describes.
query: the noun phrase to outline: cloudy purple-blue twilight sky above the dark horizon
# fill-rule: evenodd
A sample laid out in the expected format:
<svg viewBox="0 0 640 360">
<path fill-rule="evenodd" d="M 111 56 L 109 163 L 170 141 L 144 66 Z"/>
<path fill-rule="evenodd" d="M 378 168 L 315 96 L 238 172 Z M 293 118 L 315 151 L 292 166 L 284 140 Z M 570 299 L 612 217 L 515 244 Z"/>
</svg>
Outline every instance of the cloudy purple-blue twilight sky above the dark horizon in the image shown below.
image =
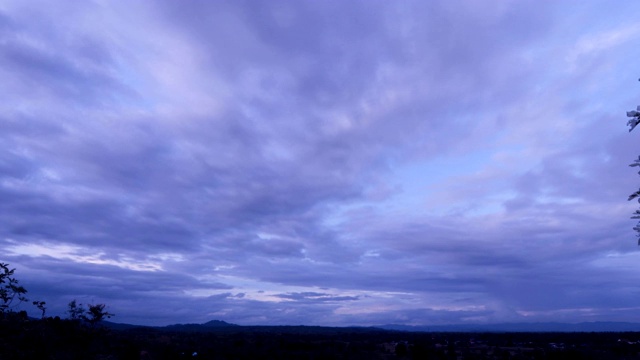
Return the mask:
<svg viewBox="0 0 640 360">
<path fill-rule="evenodd" d="M 143 325 L 639 321 L 638 13 L 2 1 L 0 262 Z"/>
</svg>

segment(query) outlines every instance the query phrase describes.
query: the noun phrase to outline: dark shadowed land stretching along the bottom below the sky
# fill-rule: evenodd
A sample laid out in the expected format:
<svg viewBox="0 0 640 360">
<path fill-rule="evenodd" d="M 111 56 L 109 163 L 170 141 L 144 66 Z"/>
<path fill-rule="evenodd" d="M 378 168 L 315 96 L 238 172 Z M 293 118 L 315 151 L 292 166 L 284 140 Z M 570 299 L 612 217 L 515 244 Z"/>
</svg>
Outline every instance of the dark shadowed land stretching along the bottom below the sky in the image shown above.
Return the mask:
<svg viewBox="0 0 640 360">
<path fill-rule="evenodd" d="M 89 325 L 12 313 L 0 322 L 0 359 L 640 359 L 640 333 L 635 331 L 478 329 L 238 326 L 217 320 L 165 327 Z"/>
</svg>

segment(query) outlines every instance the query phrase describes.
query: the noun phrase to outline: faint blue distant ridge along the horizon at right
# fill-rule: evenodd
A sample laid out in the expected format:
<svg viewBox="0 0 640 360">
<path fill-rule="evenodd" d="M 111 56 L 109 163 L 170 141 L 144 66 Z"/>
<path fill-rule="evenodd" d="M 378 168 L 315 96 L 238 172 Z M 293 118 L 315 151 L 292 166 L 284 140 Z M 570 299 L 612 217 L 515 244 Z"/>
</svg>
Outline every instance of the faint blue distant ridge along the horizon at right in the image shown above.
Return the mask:
<svg viewBox="0 0 640 360">
<path fill-rule="evenodd" d="M 630 322 L 582 322 L 568 323 L 502 323 L 460 325 L 382 325 L 380 329 L 416 332 L 625 332 L 640 331 L 640 323 Z"/>
</svg>

